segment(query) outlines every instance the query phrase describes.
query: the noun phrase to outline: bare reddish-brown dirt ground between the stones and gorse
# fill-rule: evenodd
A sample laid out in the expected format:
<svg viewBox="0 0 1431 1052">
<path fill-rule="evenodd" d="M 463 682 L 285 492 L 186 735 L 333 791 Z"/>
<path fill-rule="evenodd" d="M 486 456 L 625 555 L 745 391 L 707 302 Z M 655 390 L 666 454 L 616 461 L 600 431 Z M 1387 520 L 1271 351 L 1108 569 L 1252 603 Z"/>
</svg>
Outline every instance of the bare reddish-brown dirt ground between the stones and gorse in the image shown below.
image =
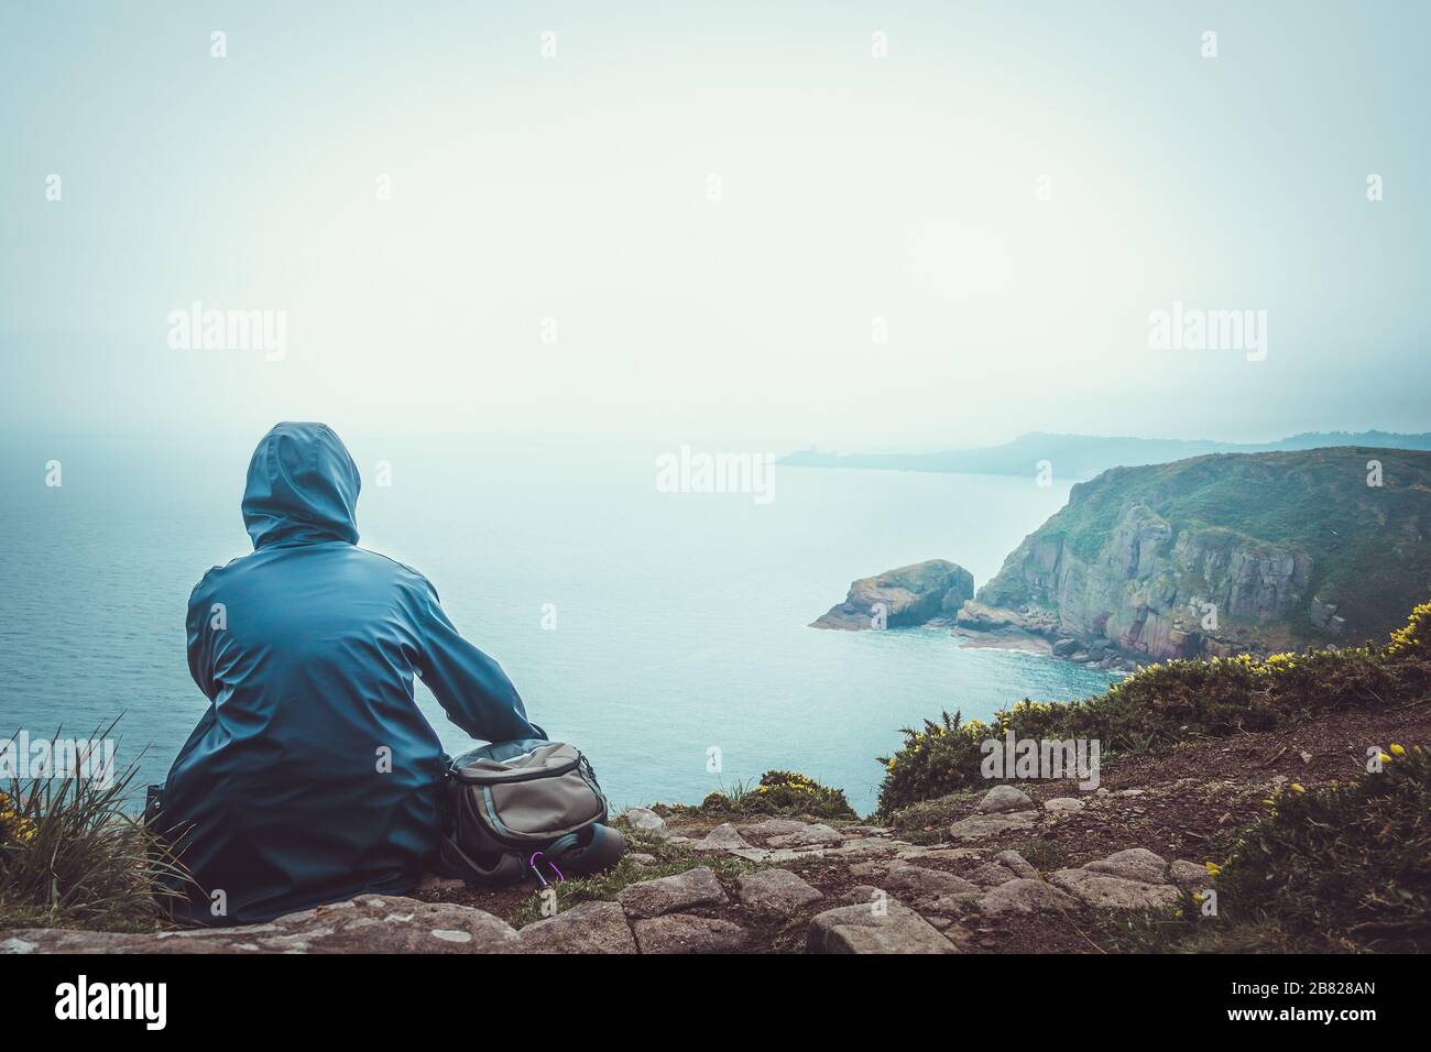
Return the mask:
<svg viewBox="0 0 1431 1052">
<path fill-rule="evenodd" d="M 1391 711 L 1339 713 L 1296 727 L 1109 760 L 1102 767 L 1100 789 L 1105 792 L 1098 793 L 1080 792 L 1073 781 L 1022 781 L 1019 787 L 1036 804 L 1059 796 L 1079 797 L 1086 804 L 1080 812 L 1056 816 L 1043 813 L 1040 807 L 1042 817 L 1035 829 L 983 840 L 939 842 L 947 842 L 949 823 L 975 812 L 979 794 L 972 793 L 967 800 L 950 807 L 942 826 L 896 829 L 893 836 L 907 839 L 910 833 L 917 833 L 924 846 L 964 849 L 910 859 L 913 865 L 960 876 L 967 876 L 986 857 L 1010 847 L 1043 873 L 1080 866 L 1128 847 L 1146 847 L 1169 862 L 1221 862 L 1236 830 L 1265 813 L 1262 800 L 1276 784 L 1285 781 L 1311 787 L 1357 777 L 1365 771 L 1368 750 L 1384 750 L 1391 743 L 1431 743 L 1431 701 Z M 714 820 L 683 823 L 675 826 L 675 832 L 694 837 L 714 824 Z M 756 846 L 763 843 L 758 834 L 746 836 Z M 820 902 L 794 915 L 751 915 L 734 903 L 690 912 L 740 923 L 751 933 L 754 952 L 800 952 L 810 916 L 844 905 L 846 896 L 859 886 L 879 886 L 877 875 L 851 873 L 851 866 L 860 862 L 869 859 L 807 857 L 783 863 L 824 895 Z M 424 890 L 418 897 L 458 902 L 511 919 L 534 890 L 535 885 L 499 890 L 445 887 Z M 1108 915 L 1083 909 L 1000 917 L 980 917 L 977 912 L 949 916 L 926 912 L 924 916 L 947 929 L 962 949 L 975 953 L 1098 953 L 1110 945 L 1105 937 Z"/>
</svg>

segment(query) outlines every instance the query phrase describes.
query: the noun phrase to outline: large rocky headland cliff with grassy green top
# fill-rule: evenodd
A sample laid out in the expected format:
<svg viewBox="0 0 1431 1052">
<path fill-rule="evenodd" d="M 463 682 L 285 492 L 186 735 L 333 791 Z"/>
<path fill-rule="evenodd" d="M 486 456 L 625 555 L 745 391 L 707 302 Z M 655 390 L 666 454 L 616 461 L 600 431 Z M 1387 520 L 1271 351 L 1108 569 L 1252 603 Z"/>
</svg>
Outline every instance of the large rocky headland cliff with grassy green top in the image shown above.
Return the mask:
<svg viewBox="0 0 1431 1052">
<path fill-rule="evenodd" d="M 1361 448 L 1115 468 L 1073 487 L 957 621 L 1063 656 L 1359 643 L 1431 593 L 1428 482 L 1431 455 Z"/>
</svg>

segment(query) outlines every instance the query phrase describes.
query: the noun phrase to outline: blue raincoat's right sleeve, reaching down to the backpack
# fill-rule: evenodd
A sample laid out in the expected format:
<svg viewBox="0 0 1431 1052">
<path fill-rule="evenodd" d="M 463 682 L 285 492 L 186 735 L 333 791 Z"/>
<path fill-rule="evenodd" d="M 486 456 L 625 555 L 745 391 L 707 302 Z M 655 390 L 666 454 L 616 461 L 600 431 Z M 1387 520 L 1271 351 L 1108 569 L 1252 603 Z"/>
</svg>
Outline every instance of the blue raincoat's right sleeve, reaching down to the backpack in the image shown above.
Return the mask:
<svg viewBox="0 0 1431 1052">
<path fill-rule="evenodd" d="M 482 741 L 545 739 L 541 727 L 528 723 L 527 708 L 507 673 L 462 638 L 435 591 L 421 601 L 419 611 L 418 674 L 448 719 Z"/>
</svg>

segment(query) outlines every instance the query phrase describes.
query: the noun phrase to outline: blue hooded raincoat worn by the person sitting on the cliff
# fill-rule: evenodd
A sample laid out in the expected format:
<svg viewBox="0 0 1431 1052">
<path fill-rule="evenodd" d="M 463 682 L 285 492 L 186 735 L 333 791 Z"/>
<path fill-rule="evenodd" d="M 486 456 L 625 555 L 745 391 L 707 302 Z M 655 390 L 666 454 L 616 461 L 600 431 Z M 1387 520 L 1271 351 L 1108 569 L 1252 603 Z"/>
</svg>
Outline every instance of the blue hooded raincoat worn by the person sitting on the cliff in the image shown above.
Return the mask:
<svg viewBox="0 0 1431 1052">
<path fill-rule="evenodd" d="M 279 424 L 249 464 L 253 552 L 189 597 L 189 671 L 212 704 L 169 770 L 163 824 L 203 889 L 195 920 L 412 890 L 445 763 L 415 673 L 474 739 L 545 737 L 428 580 L 355 547 L 359 485 L 326 425 Z"/>
</svg>

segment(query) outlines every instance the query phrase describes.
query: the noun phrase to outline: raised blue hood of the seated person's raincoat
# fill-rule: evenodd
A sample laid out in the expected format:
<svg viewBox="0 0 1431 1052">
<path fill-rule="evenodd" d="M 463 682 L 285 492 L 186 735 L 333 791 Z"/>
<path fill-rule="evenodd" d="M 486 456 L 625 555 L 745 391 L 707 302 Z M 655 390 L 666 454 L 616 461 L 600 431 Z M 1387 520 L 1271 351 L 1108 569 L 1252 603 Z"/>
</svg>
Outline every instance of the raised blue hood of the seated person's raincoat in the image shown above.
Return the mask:
<svg viewBox="0 0 1431 1052">
<path fill-rule="evenodd" d="M 362 479 L 326 424 L 279 424 L 249 461 L 243 527 L 259 548 L 358 542 Z"/>
</svg>

